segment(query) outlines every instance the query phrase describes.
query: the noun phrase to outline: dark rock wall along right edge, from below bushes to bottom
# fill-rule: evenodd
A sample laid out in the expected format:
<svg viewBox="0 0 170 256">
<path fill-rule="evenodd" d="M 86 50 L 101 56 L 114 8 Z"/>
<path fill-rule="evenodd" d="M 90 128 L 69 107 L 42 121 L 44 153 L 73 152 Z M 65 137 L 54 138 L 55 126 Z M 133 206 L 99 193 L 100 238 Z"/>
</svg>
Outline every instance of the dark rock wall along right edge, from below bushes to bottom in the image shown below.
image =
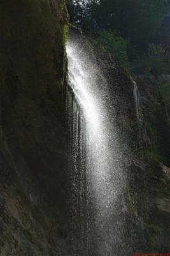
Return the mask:
<svg viewBox="0 0 170 256">
<path fill-rule="evenodd" d="M 169 76 L 137 76 L 143 113 L 143 147 L 138 159 L 146 164 L 146 198 L 140 200 L 148 250 L 167 253 L 170 250 L 170 126 L 169 126 Z M 166 89 L 166 90 L 165 90 Z M 139 180 L 139 182 L 141 182 Z M 139 184 L 138 182 L 138 184 Z"/>
</svg>

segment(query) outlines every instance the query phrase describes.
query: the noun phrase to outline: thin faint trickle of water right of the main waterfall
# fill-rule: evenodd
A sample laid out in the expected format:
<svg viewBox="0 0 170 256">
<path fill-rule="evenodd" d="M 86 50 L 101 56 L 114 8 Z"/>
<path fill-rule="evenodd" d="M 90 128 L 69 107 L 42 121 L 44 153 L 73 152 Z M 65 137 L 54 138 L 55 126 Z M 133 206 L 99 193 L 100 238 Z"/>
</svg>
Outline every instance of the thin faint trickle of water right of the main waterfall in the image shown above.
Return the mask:
<svg viewBox="0 0 170 256">
<path fill-rule="evenodd" d="M 134 86 L 134 102 L 135 102 L 136 117 L 138 122 L 138 131 L 139 131 L 139 137 L 141 138 L 141 127 L 142 127 L 143 120 L 142 120 L 142 112 L 141 112 L 140 93 L 135 81 L 133 81 L 133 86 Z"/>
</svg>

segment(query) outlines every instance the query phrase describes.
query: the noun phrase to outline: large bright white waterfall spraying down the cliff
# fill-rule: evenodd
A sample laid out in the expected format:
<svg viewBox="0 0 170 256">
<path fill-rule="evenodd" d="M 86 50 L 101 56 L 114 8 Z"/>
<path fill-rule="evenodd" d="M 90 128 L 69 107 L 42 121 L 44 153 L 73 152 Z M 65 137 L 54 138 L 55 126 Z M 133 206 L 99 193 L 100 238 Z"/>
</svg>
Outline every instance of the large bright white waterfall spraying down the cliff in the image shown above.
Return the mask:
<svg viewBox="0 0 170 256">
<path fill-rule="evenodd" d="M 124 232 L 114 109 L 106 78 L 83 45 L 69 38 L 66 50 L 71 255 L 114 256 Z"/>
</svg>

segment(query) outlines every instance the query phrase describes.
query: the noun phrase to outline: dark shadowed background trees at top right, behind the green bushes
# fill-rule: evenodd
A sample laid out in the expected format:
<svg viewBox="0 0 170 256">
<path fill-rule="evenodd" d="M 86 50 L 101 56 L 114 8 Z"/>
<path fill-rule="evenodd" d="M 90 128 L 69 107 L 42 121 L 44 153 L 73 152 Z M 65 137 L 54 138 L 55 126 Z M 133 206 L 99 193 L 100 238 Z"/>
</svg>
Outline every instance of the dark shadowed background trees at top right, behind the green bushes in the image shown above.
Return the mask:
<svg viewBox="0 0 170 256">
<path fill-rule="evenodd" d="M 169 8 L 168 0 L 101 0 L 92 3 L 92 17 L 143 51 L 153 42 Z"/>
</svg>

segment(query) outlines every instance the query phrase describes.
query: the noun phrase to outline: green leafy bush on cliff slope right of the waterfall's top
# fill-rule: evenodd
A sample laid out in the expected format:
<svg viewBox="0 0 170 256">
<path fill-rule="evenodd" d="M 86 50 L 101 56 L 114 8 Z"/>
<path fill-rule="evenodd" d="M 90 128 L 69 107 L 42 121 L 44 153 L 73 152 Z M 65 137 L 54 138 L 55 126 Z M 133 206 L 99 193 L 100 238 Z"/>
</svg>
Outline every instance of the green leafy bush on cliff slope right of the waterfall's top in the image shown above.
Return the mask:
<svg viewBox="0 0 170 256">
<path fill-rule="evenodd" d="M 112 31 L 102 31 L 98 37 L 99 42 L 105 45 L 106 49 L 110 51 L 117 60 L 128 65 L 127 46 L 128 40 L 125 40 L 122 36 L 116 35 Z"/>
</svg>

